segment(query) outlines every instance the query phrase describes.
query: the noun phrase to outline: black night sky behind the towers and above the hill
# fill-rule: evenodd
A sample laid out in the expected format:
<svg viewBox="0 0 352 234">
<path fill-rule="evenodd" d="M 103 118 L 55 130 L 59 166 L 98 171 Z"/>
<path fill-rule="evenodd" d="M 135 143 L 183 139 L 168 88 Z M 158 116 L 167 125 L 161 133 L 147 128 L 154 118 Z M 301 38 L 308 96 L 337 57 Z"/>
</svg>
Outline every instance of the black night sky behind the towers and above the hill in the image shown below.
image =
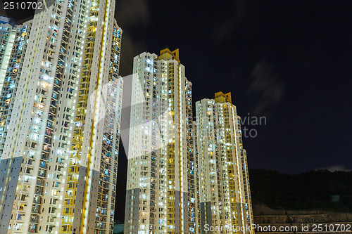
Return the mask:
<svg viewBox="0 0 352 234">
<path fill-rule="evenodd" d="M 250 168 L 352 169 L 352 1 L 117 1 L 120 74 L 143 51 L 180 49 L 193 100 L 232 93 Z M 253 133 L 253 132 L 252 132 Z M 126 159 L 120 150 L 117 219 Z"/>
</svg>

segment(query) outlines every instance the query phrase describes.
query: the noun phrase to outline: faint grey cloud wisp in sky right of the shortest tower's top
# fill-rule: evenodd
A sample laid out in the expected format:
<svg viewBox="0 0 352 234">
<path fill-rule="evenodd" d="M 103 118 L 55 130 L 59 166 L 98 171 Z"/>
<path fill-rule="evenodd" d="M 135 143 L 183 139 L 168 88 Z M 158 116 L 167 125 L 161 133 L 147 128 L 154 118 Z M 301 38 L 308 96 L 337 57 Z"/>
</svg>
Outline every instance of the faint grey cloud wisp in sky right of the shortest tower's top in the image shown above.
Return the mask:
<svg viewBox="0 0 352 234">
<path fill-rule="evenodd" d="M 248 91 L 260 96 L 253 115 L 257 115 L 270 105 L 279 102 L 284 94 L 284 83 L 277 78 L 274 68 L 273 63 L 263 60 L 254 66 L 250 74 L 251 84 Z"/>
</svg>

